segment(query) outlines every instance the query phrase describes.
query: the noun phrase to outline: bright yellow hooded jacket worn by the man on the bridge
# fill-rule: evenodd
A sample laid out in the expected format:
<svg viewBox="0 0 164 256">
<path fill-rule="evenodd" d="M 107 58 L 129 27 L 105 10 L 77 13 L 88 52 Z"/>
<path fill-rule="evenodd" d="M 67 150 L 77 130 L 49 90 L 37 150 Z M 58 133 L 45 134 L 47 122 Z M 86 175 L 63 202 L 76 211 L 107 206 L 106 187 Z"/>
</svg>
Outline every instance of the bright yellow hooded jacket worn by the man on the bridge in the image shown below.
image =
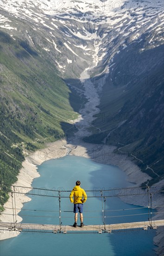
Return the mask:
<svg viewBox="0 0 164 256">
<path fill-rule="evenodd" d="M 73 199 L 74 197 L 74 199 Z M 82 199 L 83 197 L 83 199 Z M 70 198 L 70 202 L 73 202 L 73 203 L 83 203 L 87 200 L 87 194 L 85 193 L 85 190 L 80 188 L 80 186 L 75 186 L 70 195 L 69 195 L 69 198 Z"/>
</svg>

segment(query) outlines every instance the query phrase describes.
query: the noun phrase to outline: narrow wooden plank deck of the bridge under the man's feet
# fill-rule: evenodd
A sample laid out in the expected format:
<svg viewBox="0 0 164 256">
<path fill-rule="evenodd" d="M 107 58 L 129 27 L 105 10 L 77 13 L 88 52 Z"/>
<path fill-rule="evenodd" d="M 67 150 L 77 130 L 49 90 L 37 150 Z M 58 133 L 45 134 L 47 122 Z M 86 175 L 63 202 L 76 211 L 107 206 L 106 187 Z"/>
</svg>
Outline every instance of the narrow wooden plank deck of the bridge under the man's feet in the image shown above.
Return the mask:
<svg viewBox="0 0 164 256">
<path fill-rule="evenodd" d="M 71 231 L 94 231 L 95 233 L 107 232 L 111 233 L 114 230 L 126 230 L 126 229 L 157 229 L 159 226 L 164 226 L 164 220 L 156 220 L 152 222 L 129 222 L 119 224 L 106 224 L 106 225 L 85 225 L 83 228 L 77 226 L 64 226 L 64 225 L 51 225 L 51 224 L 33 224 L 33 223 L 10 223 L 0 222 L 1 230 L 9 231 L 37 231 L 37 232 L 48 232 L 53 233 L 67 233 Z"/>
</svg>

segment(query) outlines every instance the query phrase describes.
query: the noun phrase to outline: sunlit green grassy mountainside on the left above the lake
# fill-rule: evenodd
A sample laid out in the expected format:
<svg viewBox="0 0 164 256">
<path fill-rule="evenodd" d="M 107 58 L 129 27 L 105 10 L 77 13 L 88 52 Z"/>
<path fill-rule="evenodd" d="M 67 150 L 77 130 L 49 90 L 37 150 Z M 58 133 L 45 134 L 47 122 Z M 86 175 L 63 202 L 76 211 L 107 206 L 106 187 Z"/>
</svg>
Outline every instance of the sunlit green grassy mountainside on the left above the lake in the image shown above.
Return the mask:
<svg viewBox="0 0 164 256">
<path fill-rule="evenodd" d="M 0 33 L 0 41 L 6 42 L 0 47 L 0 210 L 26 151 L 65 137 L 63 127 L 68 129 L 69 119 L 78 116 L 69 103 L 71 92 L 47 52 L 11 46 L 10 40 L 8 34 Z"/>
</svg>

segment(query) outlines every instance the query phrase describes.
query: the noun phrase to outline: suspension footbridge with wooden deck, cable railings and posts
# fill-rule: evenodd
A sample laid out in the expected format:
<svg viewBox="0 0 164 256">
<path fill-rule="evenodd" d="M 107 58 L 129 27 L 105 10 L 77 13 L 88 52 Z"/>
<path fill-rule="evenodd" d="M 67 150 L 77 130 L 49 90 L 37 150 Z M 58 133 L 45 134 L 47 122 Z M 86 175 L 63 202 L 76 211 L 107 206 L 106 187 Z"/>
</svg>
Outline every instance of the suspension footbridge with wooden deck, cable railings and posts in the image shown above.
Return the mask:
<svg viewBox="0 0 164 256">
<path fill-rule="evenodd" d="M 113 196 L 121 197 L 121 196 L 132 196 L 131 191 L 134 189 L 139 189 L 138 193 L 139 195 L 143 195 L 147 198 L 147 206 L 146 207 L 136 207 L 136 208 L 130 208 L 130 209 L 106 209 L 106 202 L 108 198 L 111 198 Z M 41 193 L 41 191 L 43 193 Z M 45 193 L 46 191 L 46 193 Z M 118 193 L 119 191 L 119 193 Z M 126 193 L 125 193 L 126 191 Z M 137 191 L 137 190 L 136 190 Z M 153 220 L 152 215 L 155 215 L 157 212 L 154 211 L 154 209 L 162 209 L 159 210 L 158 213 L 163 213 L 164 215 L 164 205 L 157 205 L 152 202 L 152 197 L 157 193 L 164 193 L 164 189 L 157 189 L 157 187 L 131 187 L 131 188 L 116 188 L 116 189 L 99 189 L 95 188 L 94 190 L 86 190 L 88 193 L 93 193 L 94 195 L 88 195 L 89 198 L 99 198 L 101 200 L 101 210 L 95 211 L 95 210 L 89 210 L 84 211 L 84 217 L 90 218 L 90 219 L 96 219 L 96 216 L 90 216 L 90 213 L 92 212 L 99 212 L 101 213 L 99 215 L 99 218 L 101 216 L 101 223 L 100 224 L 91 224 L 91 225 L 85 225 L 84 227 L 80 227 L 77 225 L 76 228 L 70 225 L 63 225 L 62 219 L 64 218 L 72 218 L 72 211 L 68 210 L 62 210 L 61 208 L 61 202 L 65 198 L 66 200 L 69 200 L 69 195 L 64 196 L 64 193 L 70 193 L 71 191 L 62 190 L 61 188 L 59 190 L 55 189 L 38 189 L 38 188 L 31 188 L 31 187 L 21 187 L 21 186 L 12 186 L 11 188 L 11 199 L 12 199 L 12 208 L 6 208 L 11 211 L 11 213 L 5 213 L 1 212 L 1 215 L 10 215 L 12 217 L 12 222 L 2 222 L 0 221 L 0 230 L 3 231 L 12 231 L 12 232 L 41 232 L 41 233 L 111 233 L 111 232 L 119 232 L 119 231 L 129 231 L 133 229 L 157 229 L 160 226 L 164 226 L 164 219 L 160 220 Z M 44 196 L 44 197 L 53 197 L 58 199 L 58 209 L 54 210 L 40 210 L 40 209 L 18 209 L 16 208 L 16 195 L 36 195 L 36 196 Z M 56 195 L 57 194 L 57 195 Z M 134 201 L 135 203 L 135 201 Z M 134 211 L 138 209 L 145 209 L 146 212 L 144 213 L 130 213 L 130 214 L 122 214 L 126 211 Z M 17 222 L 17 211 L 28 211 L 28 212 L 34 212 L 35 215 L 21 215 L 23 216 L 30 216 L 30 217 L 37 217 L 37 218 L 57 218 L 58 223 L 56 224 L 47 224 L 47 223 L 18 223 Z M 38 215 L 38 212 L 48 212 L 51 213 L 52 216 L 40 216 Z M 116 215 L 113 215 L 117 212 Z M 68 216 L 68 213 L 71 213 L 71 216 Z M 88 216 L 85 216 L 88 213 Z M 147 221 L 142 222 L 126 222 L 126 223 L 112 223 L 109 224 L 110 218 L 119 218 L 119 217 L 132 217 L 132 216 L 147 216 Z M 3 231 L 2 231 L 3 230 Z"/>
</svg>

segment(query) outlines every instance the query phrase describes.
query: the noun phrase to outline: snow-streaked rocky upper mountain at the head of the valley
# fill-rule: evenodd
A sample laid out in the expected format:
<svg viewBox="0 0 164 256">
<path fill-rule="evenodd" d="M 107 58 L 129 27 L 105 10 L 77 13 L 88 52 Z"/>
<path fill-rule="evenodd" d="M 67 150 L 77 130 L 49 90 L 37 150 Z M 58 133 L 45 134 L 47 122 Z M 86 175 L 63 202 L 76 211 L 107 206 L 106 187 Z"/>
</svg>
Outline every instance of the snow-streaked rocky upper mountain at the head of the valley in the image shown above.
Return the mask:
<svg viewBox="0 0 164 256">
<path fill-rule="evenodd" d="M 80 78 L 88 67 L 92 75 L 111 72 L 113 57 L 130 44 L 143 40 L 140 51 L 162 45 L 163 8 L 162 0 L 2 0 L 1 29 L 11 45 L 46 52 L 63 78 Z"/>
</svg>

